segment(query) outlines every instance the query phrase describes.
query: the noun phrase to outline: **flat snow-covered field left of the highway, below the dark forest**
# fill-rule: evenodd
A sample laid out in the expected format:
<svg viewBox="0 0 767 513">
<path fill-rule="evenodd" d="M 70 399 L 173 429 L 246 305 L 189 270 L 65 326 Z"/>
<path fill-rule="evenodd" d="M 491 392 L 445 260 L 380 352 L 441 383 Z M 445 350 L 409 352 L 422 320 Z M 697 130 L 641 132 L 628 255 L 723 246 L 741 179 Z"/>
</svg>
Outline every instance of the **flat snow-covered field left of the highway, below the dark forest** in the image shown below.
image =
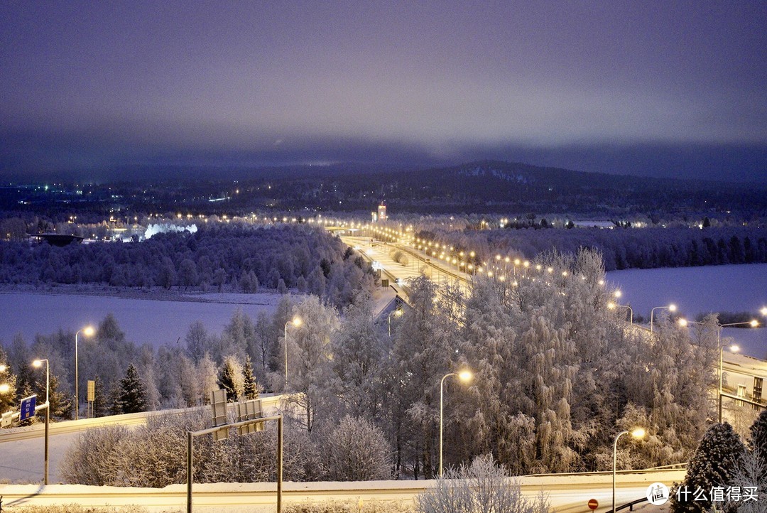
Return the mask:
<svg viewBox="0 0 767 513">
<path fill-rule="evenodd" d="M 0 291 L 0 341 L 10 344 L 16 334 L 21 334 L 30 342 L 35 334 L 51 334 L 59 328 L 79 330 L 112 313 L 127 340 L 159 347 L 175 343 L 179 337 L 183 341 L 194 321 L 202 321 L 207 330 L 219 334 L 238 308 L 254 318 L 259 311 L 272 314 L 280 298 L 280 294 L 272 293 L 195 294 L 161 301 Z"/>
</svg>

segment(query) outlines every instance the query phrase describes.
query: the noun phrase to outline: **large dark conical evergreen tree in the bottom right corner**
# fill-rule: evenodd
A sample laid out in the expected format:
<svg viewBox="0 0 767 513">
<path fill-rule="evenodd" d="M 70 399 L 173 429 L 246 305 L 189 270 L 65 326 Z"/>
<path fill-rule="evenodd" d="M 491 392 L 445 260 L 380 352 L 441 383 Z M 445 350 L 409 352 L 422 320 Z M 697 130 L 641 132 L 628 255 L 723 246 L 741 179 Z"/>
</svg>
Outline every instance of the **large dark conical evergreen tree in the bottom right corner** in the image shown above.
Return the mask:
<svg viewBox="0 0 767 513">
<path fill-rule="evenodd" d="M 676 489 L 670 494 L 671 511 L 674 513 L 709 511 L 712 506 L 710 500 L 693 500 L 696 490 L 700 488 L 705 491 L 706 497 L 710 499 L 712 488 L 732 482 L 744 452 L 743 443 L 728 423 L 713 424 L 709 427 L 693 458 L 690 459 L 690 465 L 687 465 L 687 473 L 680 485 L 681 500 L 676 498 Z M 690 495 L 686 495 L 686 492 Z"/>
</svg>

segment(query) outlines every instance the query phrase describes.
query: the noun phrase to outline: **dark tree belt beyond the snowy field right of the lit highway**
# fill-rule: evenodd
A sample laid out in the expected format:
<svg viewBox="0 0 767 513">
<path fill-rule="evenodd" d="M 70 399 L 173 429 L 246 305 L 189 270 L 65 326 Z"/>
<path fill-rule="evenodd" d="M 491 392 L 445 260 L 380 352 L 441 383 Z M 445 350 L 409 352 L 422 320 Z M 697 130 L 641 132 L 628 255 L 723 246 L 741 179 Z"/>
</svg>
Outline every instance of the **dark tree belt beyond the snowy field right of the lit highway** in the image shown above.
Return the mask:
<svg viewBox="0 0 767 513">
<path fill-rule="evenodd" d="M 591 248 L 604 255 L 607 271 L 767 262 L 767 231 L 749 227 L 480 232 L 435 229 L 420 232 L 419 236 L 451 245 L 456 252 L 474 251 L 477 261 L 489 261 L 498 253 L 532 259 L 551 250 L 574 255 L 579 248 Z"/>
</svg>

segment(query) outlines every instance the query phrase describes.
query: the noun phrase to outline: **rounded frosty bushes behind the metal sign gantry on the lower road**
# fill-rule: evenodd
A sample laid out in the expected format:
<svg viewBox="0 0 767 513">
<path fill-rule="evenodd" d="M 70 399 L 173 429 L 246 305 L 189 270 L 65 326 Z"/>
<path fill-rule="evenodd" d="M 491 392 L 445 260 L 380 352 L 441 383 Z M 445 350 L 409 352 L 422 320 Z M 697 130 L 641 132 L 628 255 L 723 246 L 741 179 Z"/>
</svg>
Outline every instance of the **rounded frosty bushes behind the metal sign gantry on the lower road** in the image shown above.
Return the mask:
<svg viewBox="0 0 767 513">
<path fill-rule="evenodd" d="M 81 433 L 64 455 L 61 475 L 66 482 L 85 485 L 161 488 L 186 482 L 186 432 L 209 425 L 209 410 L 199 409 L 152 416 L 145 426 L 134 429 L 91 429 Z M 284 434 L 285 481 L 389 477 L 390 451 L 384 435 L 367 421 L 344 419 L 328 438 L 310 436 L 291 423 L 285 424 Z M 200 436 L 194 442 L 195 482 L 275 481 L 276 451 L 275 423 L 248 436 L 232 431 L 221 442 Z"/>
</svg>

